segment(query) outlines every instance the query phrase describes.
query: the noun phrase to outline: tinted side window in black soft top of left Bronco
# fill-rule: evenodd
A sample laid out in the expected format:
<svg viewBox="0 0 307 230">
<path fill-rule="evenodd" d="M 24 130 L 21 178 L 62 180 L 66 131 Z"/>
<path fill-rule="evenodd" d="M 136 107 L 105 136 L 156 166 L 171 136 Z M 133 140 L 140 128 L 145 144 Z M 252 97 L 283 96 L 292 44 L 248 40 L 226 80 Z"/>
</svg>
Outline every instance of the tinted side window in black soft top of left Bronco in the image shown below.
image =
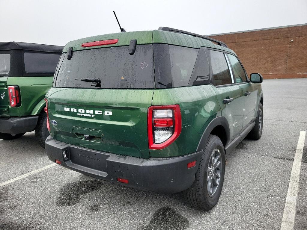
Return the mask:
<svg viewBox="0 0 307 230">
<path fill-rule="evenodd" d="M 25 71 L 27 73 L 54 73 L 60 54 L 24 53 Z"/>
</svg>

